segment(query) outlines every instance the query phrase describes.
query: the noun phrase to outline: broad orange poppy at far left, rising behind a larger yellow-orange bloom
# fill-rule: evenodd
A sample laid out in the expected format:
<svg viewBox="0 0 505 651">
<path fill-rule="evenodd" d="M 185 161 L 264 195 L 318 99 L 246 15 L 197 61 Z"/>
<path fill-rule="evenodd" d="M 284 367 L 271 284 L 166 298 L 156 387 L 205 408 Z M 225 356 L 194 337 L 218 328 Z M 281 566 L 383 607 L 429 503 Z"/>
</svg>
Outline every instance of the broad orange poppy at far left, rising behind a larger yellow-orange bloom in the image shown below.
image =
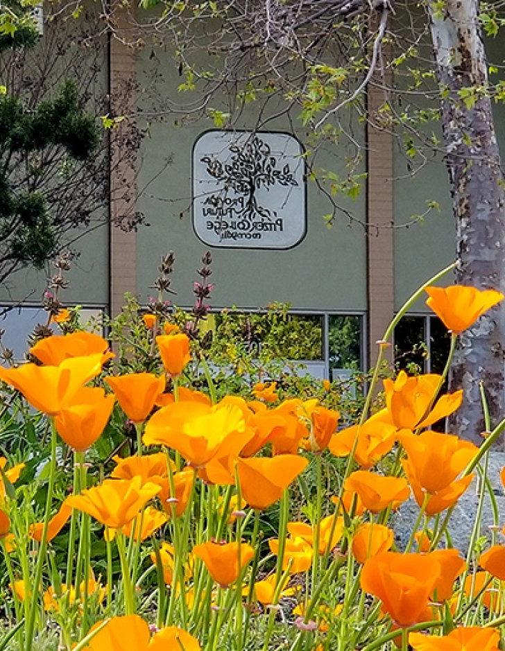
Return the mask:
<svg viewBox="0 0 505 651">
<path fill-rule="evenodd" d="M 37 341 L 30 349 L 31 354 L 46 366 L 59 366 L 73 357 L 88 357 L 101 354 L 101 362 L 112 357 L 109 344 L 100 335 L 79 331 L 68 335 L 53 335 Z"/>
</svg>

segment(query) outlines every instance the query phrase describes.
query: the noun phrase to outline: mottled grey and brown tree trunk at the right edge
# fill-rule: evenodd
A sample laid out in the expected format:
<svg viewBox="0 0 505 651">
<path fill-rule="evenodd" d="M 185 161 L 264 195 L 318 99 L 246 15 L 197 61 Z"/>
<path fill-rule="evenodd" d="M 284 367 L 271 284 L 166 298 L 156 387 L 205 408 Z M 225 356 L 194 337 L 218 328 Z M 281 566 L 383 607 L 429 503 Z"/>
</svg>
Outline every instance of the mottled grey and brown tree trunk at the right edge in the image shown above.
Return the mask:
<svg viewBox="0 0 505 651">
<path fill-rule="evenodd" d="M 456 218 L 456 281 L 505 293 L 504 177 L 488 96 L 488 71 L 477 0 L 427 3 L 442 125 Z M 438 6 L 438 10 L 436 7 Z M 450 431 L 480 444 L 485 431 L 479 382 L 486 389 L 491 424 L 504 416 L 505 305 L 500 304 L 459 338 L 450 389 L 463 388 L 463 405 Z"/>
</svg>

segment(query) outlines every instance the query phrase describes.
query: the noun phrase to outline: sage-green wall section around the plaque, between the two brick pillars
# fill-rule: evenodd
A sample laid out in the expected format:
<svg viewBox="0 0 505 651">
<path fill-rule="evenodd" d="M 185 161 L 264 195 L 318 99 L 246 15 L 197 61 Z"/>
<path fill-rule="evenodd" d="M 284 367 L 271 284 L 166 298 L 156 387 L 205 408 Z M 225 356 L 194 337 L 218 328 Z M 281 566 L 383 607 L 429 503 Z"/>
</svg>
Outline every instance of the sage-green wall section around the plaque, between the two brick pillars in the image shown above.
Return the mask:
<svg viewBox="0 0 505 651">
<path fill-rule="evenodd" d="M 141 89 L 140 105 L 152 110 L 149 96 L 151 80 L 162 97 L 177 97 L 181 83 L 176 64 L 168 54 L 159 54 L 160 61 L 149 58 L 151 50 L 144 50 L 137 63 Z M 180 101 L 191 99 L 180 94 Z M 213 101 L 213 106 L 216 103 Z M 255 107 L 241 119 L 239 128 L 250 128 L 256 122 Z M 177 125 L 174 125 L 177 121 Z M 191 224 L 191 149 L 198 136 L 215 128 L 212 121 L 195 119 L 184 114 L 170 114 L 164 120 L 148 125 L 148 137 L 142 143 L 139 164 L 139 187 L 148 185 L 139 198 L 139 210 L 146 215 L 149 227 L 137 234 L 137 290 L 146 300 L 148 286 L 153 284 L 157 262 L 168 250 L 176 252 L 173 288 L 178 291 L 174 302 L 193 303 L 191 288 L 197 279 L 200 257 L 208 248 L 193 232 Z M 286 119 L 268 123 L 268 130 L 288 131 Z M 307 134 L 298 131 L 298 138 L 306 142 Z M 356 129 L 355 137 L 363 139 L 363 128 Z M 329 150 L 321 148 L 316 165 L 342 172 L 345 146 Z M 171 164 L 152 181 L 163 168 L 166 157 Z M 213 248 L 212 306 L 257 308 L 273 301 L 289 302 L 294 309 L 361 311 L 366 309 L 366 240 L 363 229 L 349 225 L 339 216 L 332 229 L 325 226 L 323 215 L 329 212 L 327 201 L 318 192 L 314 182 L 307 182 L 308 230 L 305 239 L 291 250 L 240 250 Z M 345 198 L 341 203 L 359 220 L 364 220 L 365 198 L 355 201 Z"/>
</svg>

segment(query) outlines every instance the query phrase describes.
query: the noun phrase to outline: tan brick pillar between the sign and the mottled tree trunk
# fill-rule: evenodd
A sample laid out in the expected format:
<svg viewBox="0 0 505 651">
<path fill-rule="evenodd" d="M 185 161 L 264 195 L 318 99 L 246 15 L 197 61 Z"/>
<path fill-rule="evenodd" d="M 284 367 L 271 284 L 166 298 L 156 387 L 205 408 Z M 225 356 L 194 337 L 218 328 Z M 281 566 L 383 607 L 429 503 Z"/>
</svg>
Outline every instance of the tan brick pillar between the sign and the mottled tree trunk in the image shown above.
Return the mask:
<svg viewBox="0 0 505 651">
<path fill-rule="evenodd" d="M 393 136 L 376 128 L 374 116 L 384 103 L 384 91 L 368 86 L 367 136 L 367 285 L 368 365 L 377 360 L 377 341 L 382 339 L 394 314 L 393 250 Z M 385 351 L 393 361 L 393 349 Z"/>
</svg>

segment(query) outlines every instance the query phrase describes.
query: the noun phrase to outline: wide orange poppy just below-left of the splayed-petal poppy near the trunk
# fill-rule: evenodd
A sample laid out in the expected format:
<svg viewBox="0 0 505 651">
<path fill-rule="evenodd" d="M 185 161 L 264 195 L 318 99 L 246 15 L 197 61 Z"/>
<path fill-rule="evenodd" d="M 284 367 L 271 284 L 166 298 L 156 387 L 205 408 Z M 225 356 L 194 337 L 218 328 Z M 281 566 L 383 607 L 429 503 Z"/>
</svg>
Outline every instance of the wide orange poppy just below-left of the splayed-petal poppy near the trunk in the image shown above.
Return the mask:
<svg viewBox="0 0 505 651">
<path fill-rule="evenodd" d="M 397 428 L 386 422 L 368 419 L 363 425 L 353 425 L 334 434 L 328 449 L 336 457 L 348 456 L 354 444 L 354 459 L 367 470 L 387 454 L 396 440 Z"/>
</svg>

